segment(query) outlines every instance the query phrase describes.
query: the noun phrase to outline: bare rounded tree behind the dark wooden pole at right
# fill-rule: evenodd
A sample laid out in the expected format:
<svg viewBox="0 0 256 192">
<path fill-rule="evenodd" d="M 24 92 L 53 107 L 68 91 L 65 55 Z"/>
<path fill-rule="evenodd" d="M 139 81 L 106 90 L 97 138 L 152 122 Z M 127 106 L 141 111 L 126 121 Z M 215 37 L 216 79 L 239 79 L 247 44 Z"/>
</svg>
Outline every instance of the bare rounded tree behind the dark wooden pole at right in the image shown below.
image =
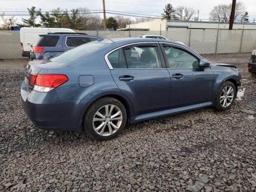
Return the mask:
<svg viewBox="0 0 256 192">
<path fill-rule="evenodd" d="M 220 4 L 214 6 L 212 11 L 210 12 L 210 20 L 216 22 L 230 22 L 231 8 L 232 4 Z M 242 17 L 244 12 L 246 12 L 244 4 L 242 2 L 237 2 L 234 20 Z"/>
</svg>

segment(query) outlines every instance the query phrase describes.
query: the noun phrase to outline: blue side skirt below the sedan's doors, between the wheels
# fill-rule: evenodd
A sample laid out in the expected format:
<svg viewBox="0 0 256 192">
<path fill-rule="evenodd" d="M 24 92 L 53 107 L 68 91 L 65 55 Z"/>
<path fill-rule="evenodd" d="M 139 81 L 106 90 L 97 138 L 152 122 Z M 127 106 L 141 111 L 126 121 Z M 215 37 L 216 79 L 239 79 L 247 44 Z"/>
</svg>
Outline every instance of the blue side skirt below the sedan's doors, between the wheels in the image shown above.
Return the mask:
<svg viewBox="0 0 256 192">
<path fill-rule="evenodd" d="M 204 102 L 200 104 L 194 104 L 194 105 L 189 105 L 189 106 L 184 106 L 184 107 L 179 107 L 174 109 L 167 109 L 167 110 L 158 111 L 158 112 L 146 113 L 146 114 L 132 117 L 131 123 L 136 123 L 136 122 L 140 122 L 140 121 L 144 121 L 152 118 L 172 115 L 180 112 L 186 112 L 186 111 L 209 107 L 209 106 L 213 106 L 213 102 Z"/>
</svg>

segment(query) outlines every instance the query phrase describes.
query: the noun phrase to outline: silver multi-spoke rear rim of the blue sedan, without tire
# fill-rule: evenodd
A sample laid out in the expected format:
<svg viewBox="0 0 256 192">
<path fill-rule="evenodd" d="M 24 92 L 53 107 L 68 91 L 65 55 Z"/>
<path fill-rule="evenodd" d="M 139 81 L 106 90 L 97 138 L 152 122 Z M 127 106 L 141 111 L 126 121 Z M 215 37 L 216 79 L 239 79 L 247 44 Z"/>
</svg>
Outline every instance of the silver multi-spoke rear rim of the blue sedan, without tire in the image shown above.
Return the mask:
<svg viewBox="0 0 256 192">
<path fill-rule="evenodd" d="M 115 105 L 104 105 L 94 114 L 92 126 L 101 136 L 114 134 L 122 125 L 122 111 Z"/>
</svg>

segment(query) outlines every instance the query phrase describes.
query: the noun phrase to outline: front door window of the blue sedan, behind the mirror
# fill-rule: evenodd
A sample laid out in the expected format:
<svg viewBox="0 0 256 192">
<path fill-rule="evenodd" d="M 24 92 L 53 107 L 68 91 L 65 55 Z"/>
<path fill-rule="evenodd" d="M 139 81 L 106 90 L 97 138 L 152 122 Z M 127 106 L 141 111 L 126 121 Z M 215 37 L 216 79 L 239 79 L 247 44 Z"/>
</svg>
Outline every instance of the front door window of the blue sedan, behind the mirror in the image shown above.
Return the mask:
<svg viewBox="0 0 256 192">
<path fill-rule="evenodd" d="M 199 60 L 185 50 L 164 46 L 170 68 L 198 68 Z"/>
</svg>

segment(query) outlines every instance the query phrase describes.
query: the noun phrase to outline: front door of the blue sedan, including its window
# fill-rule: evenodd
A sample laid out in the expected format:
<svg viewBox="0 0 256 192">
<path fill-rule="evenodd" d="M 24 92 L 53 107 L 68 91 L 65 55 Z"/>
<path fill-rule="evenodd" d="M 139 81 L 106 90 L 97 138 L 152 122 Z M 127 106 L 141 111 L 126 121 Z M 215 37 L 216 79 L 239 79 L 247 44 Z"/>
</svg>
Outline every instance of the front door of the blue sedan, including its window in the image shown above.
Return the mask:
<svg viewBox="0 0 256 192">
<path fill-rule="evenodd" d="M 161 45 L 171 78 L 169 106 L 175 108 L 208 102 L 213 86 L 212 69 L 200 68 L 201 58 L 185 47 Z"/>
</svg>

